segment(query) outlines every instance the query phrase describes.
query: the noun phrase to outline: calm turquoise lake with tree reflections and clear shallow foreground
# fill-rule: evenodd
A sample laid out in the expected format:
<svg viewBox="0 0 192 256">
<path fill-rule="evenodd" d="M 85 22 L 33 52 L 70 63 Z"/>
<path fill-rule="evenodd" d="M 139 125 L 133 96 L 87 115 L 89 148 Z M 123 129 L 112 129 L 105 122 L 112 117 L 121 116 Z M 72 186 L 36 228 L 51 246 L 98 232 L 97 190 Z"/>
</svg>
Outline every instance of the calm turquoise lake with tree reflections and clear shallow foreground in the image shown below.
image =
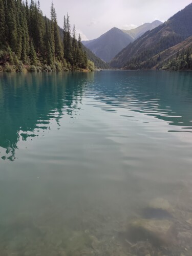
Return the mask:
<svg viewBox="0 0 192 256">
<path fill-rule="evenodd" d="M 191 185 L 191 72 L 0 74 L 1 256 L 192 255 Z"/>
</svg>

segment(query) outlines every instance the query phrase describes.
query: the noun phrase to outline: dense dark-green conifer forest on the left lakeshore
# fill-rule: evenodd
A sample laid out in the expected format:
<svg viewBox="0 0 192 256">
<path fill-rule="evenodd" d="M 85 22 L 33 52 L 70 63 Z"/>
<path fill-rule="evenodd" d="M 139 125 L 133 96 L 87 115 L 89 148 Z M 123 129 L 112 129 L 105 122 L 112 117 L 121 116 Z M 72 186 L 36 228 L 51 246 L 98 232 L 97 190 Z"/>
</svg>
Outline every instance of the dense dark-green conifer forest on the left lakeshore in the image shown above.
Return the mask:
<svg viewBox="0 0 192 256">
<path fill-rule="evenodd" d="M 102 64 L 101 61 L 100 66 Z M 0 71 L 94 68 L 81 44 L 80 34 L 76 39 L 75 25 L 71 31 L 68 14 L 64 16 L 61 32 L 53 3 L 51 19 L 48 19 L 42 15 L 39 1 L 31 0 L 29 5 L 27 0 L 25 3 L 0 0 Z"/>
</svg>

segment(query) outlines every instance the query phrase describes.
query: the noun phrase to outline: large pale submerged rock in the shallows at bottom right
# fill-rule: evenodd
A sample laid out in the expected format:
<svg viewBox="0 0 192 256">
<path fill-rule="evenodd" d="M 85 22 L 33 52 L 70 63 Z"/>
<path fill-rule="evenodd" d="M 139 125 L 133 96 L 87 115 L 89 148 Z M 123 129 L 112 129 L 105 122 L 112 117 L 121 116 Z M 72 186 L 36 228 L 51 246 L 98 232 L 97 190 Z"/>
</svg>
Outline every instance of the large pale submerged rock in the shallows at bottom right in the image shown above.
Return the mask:
<svg viewBox="0 0 192 256">
<path fill-rule="evenodd" d="M 129 237 L 132 241 L 150 241 L 152 244 L 172 244 L 173 223 L 169 220 L 133 220 L 129 225 Z"/>
</svg>

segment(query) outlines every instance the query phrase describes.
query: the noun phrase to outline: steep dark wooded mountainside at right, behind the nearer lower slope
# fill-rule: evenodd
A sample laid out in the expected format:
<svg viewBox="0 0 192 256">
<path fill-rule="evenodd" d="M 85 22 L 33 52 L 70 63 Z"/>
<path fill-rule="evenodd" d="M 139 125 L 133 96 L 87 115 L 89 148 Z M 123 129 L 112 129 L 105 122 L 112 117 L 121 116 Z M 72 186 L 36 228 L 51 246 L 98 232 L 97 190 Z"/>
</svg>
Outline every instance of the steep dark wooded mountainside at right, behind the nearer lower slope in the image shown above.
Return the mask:
<svg viewBox="0 0 192 256">
<path fill-rule="evenodd" d="M 114 68 L 151 69 L 156 54 L 179 44 L 192 35 L 192 3 L 157 28 L 147 31 L 125 47 L 110 62 Z M 144 65 L 148 61 L 148 65 Z"/>
</svg>

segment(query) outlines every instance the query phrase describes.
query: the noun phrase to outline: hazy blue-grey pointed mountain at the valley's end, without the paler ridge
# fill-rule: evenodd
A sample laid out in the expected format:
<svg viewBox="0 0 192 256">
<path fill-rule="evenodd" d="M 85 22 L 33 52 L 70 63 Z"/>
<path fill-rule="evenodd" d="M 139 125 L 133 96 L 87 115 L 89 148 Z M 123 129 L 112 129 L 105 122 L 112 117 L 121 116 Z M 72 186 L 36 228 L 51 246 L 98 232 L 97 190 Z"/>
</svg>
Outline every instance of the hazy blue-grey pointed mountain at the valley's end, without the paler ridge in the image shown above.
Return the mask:
<svg viewBox="0 0 192 256">
<path fill-rule="evenodd" d="M 82 41 L 82 44 L 89 48 L 96 56 L 109 62 L 132 41 L 133 38 L 130 35 L 114 27 L 96 39 Z"/>
</svg>

